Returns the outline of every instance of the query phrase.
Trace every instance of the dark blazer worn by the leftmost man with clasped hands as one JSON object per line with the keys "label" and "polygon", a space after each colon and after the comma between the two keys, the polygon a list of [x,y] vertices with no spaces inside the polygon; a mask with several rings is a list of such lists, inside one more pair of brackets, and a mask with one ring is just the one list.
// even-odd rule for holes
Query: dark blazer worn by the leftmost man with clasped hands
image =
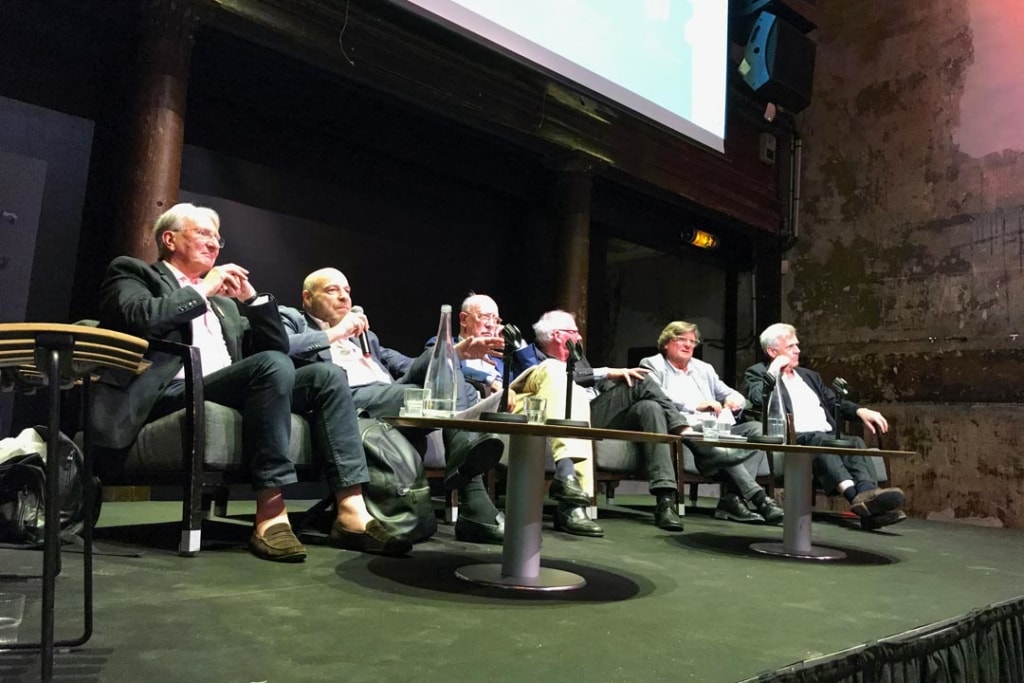
{"label": "dark blazer worn by the leftmost man with clasped hands", "polygon": [[[288,337],[272,298],[263,305],[246,306],[214,296],[210,306],[220,321],[232,360],[257,351],[288,351]],[[190,287],[180,287],[159,261],[119,256],[108,266],[100,287],[100,326],[143,339],[190,344],[191,321],[206,309],[203,297]],[[92,425],[97,445],[131,445],[157,399],[181,369],[181,359],[167,353],[151,351],[146,357],[153,365],[137,378],[104,372],[96,384]]]}

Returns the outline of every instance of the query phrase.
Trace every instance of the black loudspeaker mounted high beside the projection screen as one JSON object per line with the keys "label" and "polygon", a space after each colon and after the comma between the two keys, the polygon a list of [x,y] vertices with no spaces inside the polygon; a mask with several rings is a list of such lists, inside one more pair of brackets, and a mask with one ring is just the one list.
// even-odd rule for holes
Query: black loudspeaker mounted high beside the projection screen
{"label": "black loudspeaker mounted high beside the projection screen", "polygon": [[814,41],[771,12],[761,12],[740,65],[746,84],[767,102],[791,112],[811,103]]}

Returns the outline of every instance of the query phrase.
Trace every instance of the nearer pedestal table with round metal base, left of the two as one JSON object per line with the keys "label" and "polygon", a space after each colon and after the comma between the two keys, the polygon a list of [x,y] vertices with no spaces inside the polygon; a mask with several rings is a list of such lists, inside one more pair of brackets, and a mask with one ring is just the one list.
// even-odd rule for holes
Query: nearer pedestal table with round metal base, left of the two
{"label": "nearer pedestal table with round metal base, left of the two", "polygon": [[445,418],[384,418],[396,427],[451,428],[509,435],[508,490],[505,499],[505,542],[501,564],[460,567],[456,575],[485,586],[527,591],[582,588],[587,581],[571,571],[541,566],[541,521],[544,511],[544,458],[548,438],[590,440],[678,441],[671,434],[563,427],[525,422],[490,422]]}

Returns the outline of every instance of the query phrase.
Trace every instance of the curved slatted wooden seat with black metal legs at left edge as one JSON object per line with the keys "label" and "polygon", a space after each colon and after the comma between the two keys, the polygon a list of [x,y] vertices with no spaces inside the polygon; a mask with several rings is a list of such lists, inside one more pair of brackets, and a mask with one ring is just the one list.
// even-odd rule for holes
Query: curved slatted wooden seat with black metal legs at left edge
{"label": "curved slatted wooden seat with black metal legs at left edge", "polygon": [[[55,323],[0,324],[0,369],[3,383],[20,391],[46,388],[49,393],[49,422],[46,459],[46,511],[45,518],[59,519],[60,501],[57,486],[60,459],[60,391],[84,384],[85,411],[89,409],[88,388],[92,373],[97,368],[117,368],[139,374],[150,367],[142,356],[148,348],[143,339],[101,330],[87,325],[61,325]],[[86,447],[82,478],[85,486],[85,524],[82,539],[83,600],[85,602],[81,636],[55,642],[53,639],[53,606],[56,575],[60,565],[60,525],[46,524],[43,545],[43,604],[39,643],[11,643],[7,649],[40,648],[42,671],[40,680],[53,677],[53,647],[85,644],[92,636],[92,509],[95,492],[92,486],[92,458],[89,453],[89,430],[86,421]]]}

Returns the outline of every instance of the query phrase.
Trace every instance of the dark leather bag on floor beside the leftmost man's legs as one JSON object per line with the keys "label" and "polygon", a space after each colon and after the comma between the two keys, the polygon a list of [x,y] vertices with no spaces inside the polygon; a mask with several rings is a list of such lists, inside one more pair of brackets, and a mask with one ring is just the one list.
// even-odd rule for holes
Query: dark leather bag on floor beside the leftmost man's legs
{"label": "dark leather bag on floor beside the leftmost man's legs", "polygon": [[423,458],[401,432],[376,418],[359,418],[370,481],[362,484],[367,509],[392,533],[412,543],[437,531]]}

